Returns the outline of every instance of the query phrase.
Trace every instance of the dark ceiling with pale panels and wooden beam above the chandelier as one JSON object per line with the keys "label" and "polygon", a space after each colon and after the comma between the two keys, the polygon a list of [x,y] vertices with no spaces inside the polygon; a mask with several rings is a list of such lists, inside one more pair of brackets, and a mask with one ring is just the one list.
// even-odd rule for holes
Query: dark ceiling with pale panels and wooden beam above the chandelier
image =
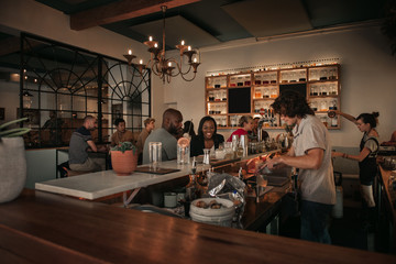
{"label": "dark ceiling with pale panels and wooden beam above the chandelier", "polygon": [[381,19],[386,0],[36,0],[70,15],[70,28],[100,25],[139,42],[194,47]]}

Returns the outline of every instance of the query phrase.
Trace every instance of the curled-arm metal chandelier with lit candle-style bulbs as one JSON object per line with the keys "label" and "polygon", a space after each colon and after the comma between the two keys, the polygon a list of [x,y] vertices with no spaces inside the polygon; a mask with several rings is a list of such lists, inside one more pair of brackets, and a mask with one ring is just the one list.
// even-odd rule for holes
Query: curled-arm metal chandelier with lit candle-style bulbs
{"label": "curled-arm metal chandelier with lit candle-style bulbs", "polygon": [[[178,62],[175,58],[167,58],[165,54],[165,12],[167,7],[162,6],[161,10],[163,12],[163,42],[162,48],[158,46],[158,42],[153,41],[153,37],[150,36],[148,41],[144,42],[148,46],[148,52],[151,53],[151,58],[147,64],[143,64],[143,59],[140,59],[139,64],[133,63],[132,61],[136,57],[132,54],[132,50],[128,51],[128,54],[123,55],[128,64],[136,67],[142,75],[143,69],[150,68],[152,73],[157,75],[163,82],[165,80],[169,84],[172,77],[178,75],[186,81],[191,81],[195,79],[197,74],[197,68],[199,66],[199,56],[197,52],[191,50],[191,46],[185,45],[185,41],[182,41],[179,45],[176,45],[176,48],[180,52],[180,57]],[[184,56],[187,57],[187,62],[184,62]],[[183,65],[187,65],[187,69],[183,68]],[[186,67],[186,66],[185,66]],[[193,73],[190,73],[193,69]]]}

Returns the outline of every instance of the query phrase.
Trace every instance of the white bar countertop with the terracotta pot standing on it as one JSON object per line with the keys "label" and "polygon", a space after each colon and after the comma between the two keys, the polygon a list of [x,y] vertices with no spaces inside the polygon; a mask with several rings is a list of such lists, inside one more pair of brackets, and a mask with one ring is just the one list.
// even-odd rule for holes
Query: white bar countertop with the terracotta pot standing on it
{"label": "white bar countertop with the terracotta pot standing on it", "polygon": [[[176,161],[163,162],[161,167],[178,168],[180,172],[164,175],[135,172],[130,176],[117,176],[113,170],[102,170],[98,173],[82,174],[74,177],[36,183],[35,189],[94,200],[122,191],[179,178],[189,175],[191,172],[190,164],[178,165]],[[210,165],[197,165],[197,172],[207,170],[209,167]]]}

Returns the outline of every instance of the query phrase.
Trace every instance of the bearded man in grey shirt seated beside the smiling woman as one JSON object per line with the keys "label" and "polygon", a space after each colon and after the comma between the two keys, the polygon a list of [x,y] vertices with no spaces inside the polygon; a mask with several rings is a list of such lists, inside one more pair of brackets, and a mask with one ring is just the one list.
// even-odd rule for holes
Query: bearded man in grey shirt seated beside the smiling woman
{"label": "bearded man in grey shirt seated beside the smiling woman", "polygon": [[176,136],[180,133],[183,125],[180,111],[168,108],[163,114],[162,128],[154,130],[144,142],[143,164],[150,163],[150,142],[162,142],[162,161],[170,161],[177,157]]}

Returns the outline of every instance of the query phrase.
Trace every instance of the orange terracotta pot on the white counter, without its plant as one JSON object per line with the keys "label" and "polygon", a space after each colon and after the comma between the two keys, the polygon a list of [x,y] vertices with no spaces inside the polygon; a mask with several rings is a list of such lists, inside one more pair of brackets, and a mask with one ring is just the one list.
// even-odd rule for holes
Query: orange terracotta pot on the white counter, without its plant
{"label": "orange terracotta pot on the white counter, without its plant", "polygon": [[131,175],[138,166],[138,151],[111,151],[111,165],[118,176]]}

